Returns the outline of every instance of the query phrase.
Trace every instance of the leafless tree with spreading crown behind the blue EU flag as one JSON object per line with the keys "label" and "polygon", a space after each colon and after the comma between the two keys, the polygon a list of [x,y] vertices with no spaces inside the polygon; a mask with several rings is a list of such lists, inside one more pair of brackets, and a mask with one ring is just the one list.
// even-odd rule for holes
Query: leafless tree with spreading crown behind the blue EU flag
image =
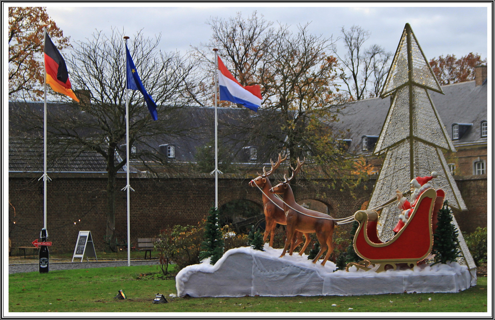
{"label": "leafless tree with spreading crown behind the blue EU flag", "polygon": [[[115,178],[127,163],[125,48],[123,32],[112,30],[109,37],[96,32],[86,42],[78,42],[67,65],[73,87],[81,103],[49,109],[48,135],[51,154],[67,157],[82,152],[97,152],[106,161],[107,235],[115,237]],[[134,165],[153,170],[150,163],[167,164],[158,152],[157,141],[185,135],[183,107],[197,99],[197,64],[177,52],[158,50],[160,36],[144,38],[141,32],[131,37],[131,55],[148,93],[157,104],[158,120],[150,117],[139,91],[129,91],[129,148]],[[61,97],[61,99],[64,99]],[[23,132],[42,132],[43,114],[37,110],[18,110],[15,127]],[[26,118],[28,121],[25,121]],[[133,147],[134,146],[134,147]],[[112,241],[113,242],[113,241]]]}

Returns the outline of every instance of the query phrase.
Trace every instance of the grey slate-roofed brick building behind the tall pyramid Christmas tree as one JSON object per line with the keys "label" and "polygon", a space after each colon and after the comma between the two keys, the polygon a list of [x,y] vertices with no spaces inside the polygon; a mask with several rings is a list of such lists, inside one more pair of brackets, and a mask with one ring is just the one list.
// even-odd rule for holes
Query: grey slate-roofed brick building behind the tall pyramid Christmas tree
{"label": "grey slate-roofed brick building behind the tall pyramid Christmas tree", "polygon": [[[486,68],[486,67],[485,67]],[[446,154],[456,176],[486,175],[488,104],[487,81],[467,81],[443,86],[445,94],[430,91],[456,153]],[[382,130],[390,108],[388,96],[358,100],[346,107],[336,127],[350,129],[349,150],[366,155],[380,169],[381,161],[372,155],[374,143]]]}

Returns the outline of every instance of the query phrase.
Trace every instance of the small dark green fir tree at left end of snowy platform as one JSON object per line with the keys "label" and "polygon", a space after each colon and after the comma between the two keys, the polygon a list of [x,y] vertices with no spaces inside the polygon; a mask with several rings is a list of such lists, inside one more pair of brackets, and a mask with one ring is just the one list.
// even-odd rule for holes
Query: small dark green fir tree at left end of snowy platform
{"label": "small dark green fir tree at left end of snowy platform", "polygon": [[210,264],[214,265],[223,255],[224,241],[222,230],[218,224],[218,216],[220,211],[215,207],[211,207],[209,216],[206,218],[204,226],[204,241],[201,243],[201,251],[199,259],[203,260],[211,257]]}

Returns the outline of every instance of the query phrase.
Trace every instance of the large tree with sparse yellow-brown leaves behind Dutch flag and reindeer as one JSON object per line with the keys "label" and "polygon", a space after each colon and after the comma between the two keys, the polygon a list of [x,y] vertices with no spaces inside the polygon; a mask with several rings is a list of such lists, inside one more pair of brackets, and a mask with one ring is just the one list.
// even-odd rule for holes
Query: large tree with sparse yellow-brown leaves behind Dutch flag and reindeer
{"label": "large tree with sparse yellow-brown leaves behind Dutch flag and reindeer", "polygon": [[[308,167],[307,174],[354,184],[351,172],[355,162],[348,159],[349,153],[338,140],[343,133],[332,130],[346,98],[339,89],[338,59],[328,54],[334,50],[334,41],[312,35],[308,24],[297,26],[296,32],[287,25],[271,28],[272,24],[255,12],[249,19],[238,14],[229,20],[214,18],[209,24],[213,30],[210,44],[219,48],[226,66],[233,74],[242,74],[238,80],[243,86],[259,84],[263,96],[258,114],[246,112],[246,117],[223,123],[222,134],[230,137],[237,149],[255,145],[260,163],[285,149],[294,167],[297,157],[309,158],[316,165]],[[247,33],[236,30],[251,32],[245,39]],[[252,38],[253,34],[256,37]],[[250,47],[241,54],[231,49],[235,43]],[[252,59],[246,60],[246,56]]]}

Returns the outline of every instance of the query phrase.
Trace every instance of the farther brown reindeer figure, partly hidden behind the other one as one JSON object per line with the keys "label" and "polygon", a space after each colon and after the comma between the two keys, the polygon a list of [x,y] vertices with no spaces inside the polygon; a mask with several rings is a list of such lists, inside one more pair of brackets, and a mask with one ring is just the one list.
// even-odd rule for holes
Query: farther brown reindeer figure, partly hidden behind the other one
{"label": "farther brown reindeer figure, partly hidden behind the other one", "polygon": [[[270,171],[266,172],[266,167],[263,167],[263,174],[258,173],[259,177],[249,182],[250,186],[254,186],[254,184],[256,184],[263,190],[263,211],[265,213],[265,224],[266,224],[265,234],[263,235],[263,242],[266,242],[268,235],[270,235],[270,247],[272,248],[273,248],[273,237],[275,234],[275,228],[277,227],[277,224],[285,226],[287,225],[287,223],[285,222],[284,210],[280,209],[283,208],[283,202],[280,201],[280,199],[277,198],[275,195],[269,192],[269,190],[272,187],[272,184],[270,183],[268,176],[270,176],[285,159],[287,159],[287,156],[285,156],[285,158],[282,159],[282,156],[279,153],[279,158],[275,164],[270,159],[270,163],[272,164],[272,168]],[[280,208],[277,207],[274,204],[274,202]],[[299,244],[302,243],[302,233],[296,232],[294,236],[296,237],[295,246],[298,246]]]}

